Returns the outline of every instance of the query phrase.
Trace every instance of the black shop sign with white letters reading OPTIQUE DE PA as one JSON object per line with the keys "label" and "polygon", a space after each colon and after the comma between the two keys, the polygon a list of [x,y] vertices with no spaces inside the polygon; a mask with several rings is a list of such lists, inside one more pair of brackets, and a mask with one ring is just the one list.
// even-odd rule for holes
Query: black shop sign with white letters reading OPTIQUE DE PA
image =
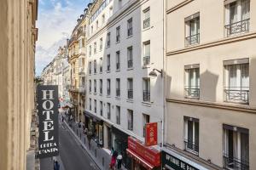
{"label": "black shop sign with white letters reading OPTIQUE DE PA", "polygon": [[[172,156],[162,150],[162,167],[163,169],[175,169],[175,170],[199,170],[196,167],[189,165],[188,163]],[[170,168],[171,167],[171,168]]]}

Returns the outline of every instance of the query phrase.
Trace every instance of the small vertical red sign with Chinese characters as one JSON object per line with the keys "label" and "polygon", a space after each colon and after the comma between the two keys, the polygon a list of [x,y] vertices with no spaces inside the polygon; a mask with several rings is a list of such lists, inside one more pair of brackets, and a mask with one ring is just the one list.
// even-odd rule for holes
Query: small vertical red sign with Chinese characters
{"label": "small vertical red sign with Chinese characters", "polygon": [[147,146],[157,144],[157,122],[151,122],[146,124],[145,144]]}

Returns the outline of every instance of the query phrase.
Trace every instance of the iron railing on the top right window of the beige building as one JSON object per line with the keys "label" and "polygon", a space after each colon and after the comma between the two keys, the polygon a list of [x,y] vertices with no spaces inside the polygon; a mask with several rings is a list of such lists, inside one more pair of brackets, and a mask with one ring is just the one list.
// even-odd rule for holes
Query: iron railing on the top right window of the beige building
{"label": "iron railing on the top right window of the beige building", "polygon": [[241,21],[232,23],[230,25],[226,25],[224,27],[227,31],[227,37],[234,35],[234,34],[247,32],[247,31],[249,31],[249,27],[250,27],[250,19],[241,20]]}

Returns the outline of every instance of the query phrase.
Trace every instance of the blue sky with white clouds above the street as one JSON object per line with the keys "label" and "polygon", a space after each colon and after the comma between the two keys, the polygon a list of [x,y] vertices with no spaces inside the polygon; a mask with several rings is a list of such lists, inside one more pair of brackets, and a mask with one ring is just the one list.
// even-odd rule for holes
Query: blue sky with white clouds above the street
{"label": "blue sky with white clouds above the street", "polygon": [[38,0],[38,42],[36,75],[55,57],[57,49],[65,45],[77,19],[90,0]]}

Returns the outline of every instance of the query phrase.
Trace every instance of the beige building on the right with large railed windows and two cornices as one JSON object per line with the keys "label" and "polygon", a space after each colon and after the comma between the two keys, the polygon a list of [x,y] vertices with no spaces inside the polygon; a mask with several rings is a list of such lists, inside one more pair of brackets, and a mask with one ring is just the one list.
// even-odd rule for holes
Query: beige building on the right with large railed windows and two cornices
{"label": "beige building on the right with large railed windows and two cornices", "polygon": [[255,0],[166,1],[166,169],[256,169],[255,44]]}

